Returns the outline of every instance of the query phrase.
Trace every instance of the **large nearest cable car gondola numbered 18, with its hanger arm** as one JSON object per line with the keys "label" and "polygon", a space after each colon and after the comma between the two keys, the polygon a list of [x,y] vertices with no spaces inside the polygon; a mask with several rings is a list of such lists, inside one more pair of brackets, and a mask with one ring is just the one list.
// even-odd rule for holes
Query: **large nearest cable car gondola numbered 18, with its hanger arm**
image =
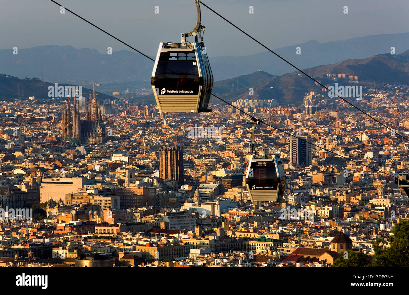
{"label": "large nearest cable car gondola numbered 18, with its hanger arm", "polygon": [[[151,84],[159,112],[211,112],[209,104],[213,74],[202,40],[200,0],[195,0],[198,22],[180,43],[161,42],[152,71]],[[195,36],[195,42],[186,37]]]}

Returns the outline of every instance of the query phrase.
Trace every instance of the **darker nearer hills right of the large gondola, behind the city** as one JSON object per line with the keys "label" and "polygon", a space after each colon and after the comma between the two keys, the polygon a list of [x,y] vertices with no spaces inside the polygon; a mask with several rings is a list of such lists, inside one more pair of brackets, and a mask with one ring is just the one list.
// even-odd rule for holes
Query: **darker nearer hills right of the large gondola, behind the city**
{"label": "darker nearer hills right of the large gondola, behind the city", "polygon": [[[329,85],[327,74],[357,75],[359,85],[369,86],[373,83],[391,85],[409,85],[409,51],[399,55],[379,54],[364,59],[345,60],[333,65],[303,69],[324,85]],[[249,87],[254,88],[254,96],[249,96]],[[299,104],[305,93],[317,91],[321,87],[315,85],[307,76],[299,71],[282,77],[272,76],[266,72],[254,72],[249,75],[222,80],[214,83],[213,93],[222,95],[227,101],[236,99],[276,99],[283,105]],[[213,100],[213,103],[216,103]]]}

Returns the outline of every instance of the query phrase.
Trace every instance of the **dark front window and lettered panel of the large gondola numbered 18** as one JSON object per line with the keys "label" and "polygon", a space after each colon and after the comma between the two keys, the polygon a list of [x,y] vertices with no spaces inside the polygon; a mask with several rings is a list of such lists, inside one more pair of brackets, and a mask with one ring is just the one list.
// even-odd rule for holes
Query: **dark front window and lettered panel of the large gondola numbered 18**
{"label": "dark front window and lettered panel of the large gondola numbered 18", "polygon": [[[198,95],[199,70],[194,53],[162,52],[157,64],[155,87],[164,95]],[[196,79],[196,81],[195,81]]]}

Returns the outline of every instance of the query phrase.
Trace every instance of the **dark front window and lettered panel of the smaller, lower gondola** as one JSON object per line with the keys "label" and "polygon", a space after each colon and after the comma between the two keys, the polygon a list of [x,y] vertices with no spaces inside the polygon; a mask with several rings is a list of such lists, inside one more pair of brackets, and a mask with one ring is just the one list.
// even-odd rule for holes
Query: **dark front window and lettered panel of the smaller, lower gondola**
{"label": "dark front window and lettered panel of the smaller, lower gondola", "polygon": [[276,165],[274,161],[252,162],[254,177],[248,178],[248,185],[251,190],[276,190],[278,179]]}

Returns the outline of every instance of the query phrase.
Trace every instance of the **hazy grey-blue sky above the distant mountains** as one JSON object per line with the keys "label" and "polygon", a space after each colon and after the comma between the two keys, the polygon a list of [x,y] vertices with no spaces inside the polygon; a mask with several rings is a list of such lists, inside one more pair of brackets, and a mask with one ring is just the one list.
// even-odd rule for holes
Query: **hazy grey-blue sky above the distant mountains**
{"label": "hazy grey-blue sky above the distant mountains", "polygon": [[[56,0],[149,56],[159,42],[180,42],[196,25],[193,0]],[[330,42],[409,31],[408,0],[204,0],[244,31],[275,49],[309,40]],[[159,13],[155,13],[155,6]],[[254,13],[249,13],[249,7]],[[348,13],[344,13],[344,6]],[[0,49],[43,45],[131,50],[50,0],[0,0]],[[202,6],[209,56],[265,51]],[[189,40],[189,39],[188,39]],[[193,40],[193,39],[191,39]]]}

